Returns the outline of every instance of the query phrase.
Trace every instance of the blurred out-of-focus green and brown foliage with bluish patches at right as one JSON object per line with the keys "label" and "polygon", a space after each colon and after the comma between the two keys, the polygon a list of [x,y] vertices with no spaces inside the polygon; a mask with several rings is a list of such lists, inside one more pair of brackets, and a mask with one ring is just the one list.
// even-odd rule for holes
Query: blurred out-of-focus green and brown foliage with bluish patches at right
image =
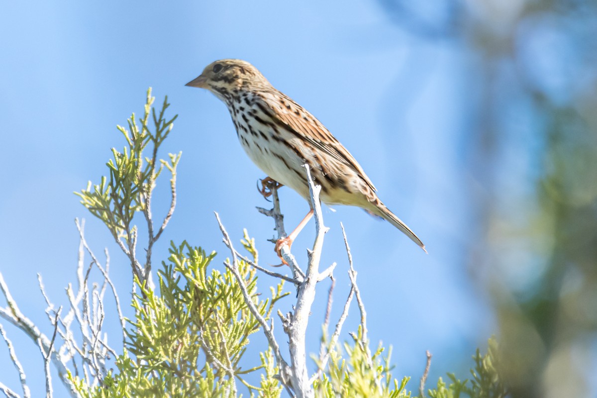
{"label": "blurred out-of-focus green and brown foliage with bluish patches at right", "polygon": [[512,396],[594,394],[597,2],[379,1],[461,57],[470,270],[490,292]]}

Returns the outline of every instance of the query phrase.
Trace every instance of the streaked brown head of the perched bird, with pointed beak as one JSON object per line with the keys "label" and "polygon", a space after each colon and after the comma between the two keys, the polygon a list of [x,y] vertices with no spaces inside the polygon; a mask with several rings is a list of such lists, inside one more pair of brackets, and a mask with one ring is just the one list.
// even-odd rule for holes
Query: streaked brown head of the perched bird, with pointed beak
{"label": "streaked brown head of the perched bird, with pointed beak", "polygon": [[206,88],[221,99],[239,91],[270,87],[256,67],[242,60],[219,60],[205,67],[201,75],[186,84]]}

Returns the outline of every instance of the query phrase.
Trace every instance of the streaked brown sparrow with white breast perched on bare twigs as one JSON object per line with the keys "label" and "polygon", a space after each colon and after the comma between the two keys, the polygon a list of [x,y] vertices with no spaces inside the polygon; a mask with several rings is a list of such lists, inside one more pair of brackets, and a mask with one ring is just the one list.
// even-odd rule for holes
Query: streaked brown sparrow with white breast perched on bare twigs
{"label": "streaked brown sparrow with white breast perched on bare twigs", "polygon": [[[321,185],[322,202],[365,209],[389,221],[425,250],[417,235],[381,203],[376,187],[346,148],[306,109],[276,90],[256,67],[242,60],[215,61],[186,85],[205,88],[224,101],[242,147],[268,175],[262,181],[264,196],[266,184],[277,182],[310,202],[302,167],[307,163],[313,179]],[[313,209],[286,243],[293,242],[312,215]],[[276,251],[280,246],[278,242]]]}

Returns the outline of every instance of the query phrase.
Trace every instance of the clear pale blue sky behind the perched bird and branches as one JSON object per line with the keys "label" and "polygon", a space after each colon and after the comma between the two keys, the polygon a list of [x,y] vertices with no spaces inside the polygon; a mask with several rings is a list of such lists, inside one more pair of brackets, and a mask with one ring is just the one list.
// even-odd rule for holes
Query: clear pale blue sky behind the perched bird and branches
{"label": "clear pale blue sky behind the perched bird and branches", "polygon": [[[325,209],[331,231],[322,263],[338,262],[332,319],[349,290],[342,221],[372,343],[393,345],[394,374],[412,376],[411,388],[417,388],[425,350],[434,355],[433,380],[462,371],[494,332],[487,297],[467,269],[467,242],[475,229],[463,171],[467,121],[461,91],[469,66],[457,43],[421,41],[393,25],[376,2],[358,1],[342,7],[316,1],[4,2],[0,36],[0,270],[21,310],[45,332],[50,327],[36,273],[50,297],[66,304],[64,288],[75,280],[75,217],[87,219],[96,254],[109,249],[121,291],[130,286],[126,258],[73,191],[106,174],[110,148],[124,146],[115,126],[142,112],[147,87],[156,103],[168,95],[171,114],[179,114],[162,158],[183,152],[179,202],[154,261],[167,258],[170,240],[186,239],[220,252],[214,262],[220,267],[226,248],[217,211],[234,239],[243,228],[256,237],[262,264],[276,263],[266,241],[273,224],[255,210],[269,205],[256,190],[263,173],[242,151],[226,107],[207,91],[184,87],[219,58],[250,61],[309,109],[361,163],[384,203],[426,243],[429,255],[360,209]],[[162,184],[167,187],[166,180]],[[168,205],[167,192],[161,193],[156,215]],[[281,200],[291,229],[308,205],[288,189],[281,190]],[[309,224],[294,254],[304,260],[312,239]],[[311,352],[318,350],[325,292],[327,285],[313,309]],[[284,306],[290,301],[282,311]],[[353,307],[344,331],[356,325]],[[33,395],[41,395],[43,383],[33,381],[42,374],[38,348],[16,329],[7,331]],[[2,343],[0,368],[10,371],[2,372],[1,381],[18,390],[17,374],[7,366]]]}

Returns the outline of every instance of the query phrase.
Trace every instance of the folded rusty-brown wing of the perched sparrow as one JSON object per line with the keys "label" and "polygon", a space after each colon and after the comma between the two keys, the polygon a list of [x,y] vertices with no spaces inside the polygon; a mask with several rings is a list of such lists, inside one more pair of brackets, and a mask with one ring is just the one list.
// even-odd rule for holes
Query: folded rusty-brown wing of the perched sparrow
{"label": "folded rusty-brown wing of the perched sparrow", "polygon": [[316,149],[325,152],[339,162],[353,169],[365,183],[377,191],[361,165],[350,155],[350,152],[336,140],[330,131],[319,122],[315,116],[281,92],[268,93],[267,97],[260,97],[257,104],[274,122],[291,134],[306,140]]}

